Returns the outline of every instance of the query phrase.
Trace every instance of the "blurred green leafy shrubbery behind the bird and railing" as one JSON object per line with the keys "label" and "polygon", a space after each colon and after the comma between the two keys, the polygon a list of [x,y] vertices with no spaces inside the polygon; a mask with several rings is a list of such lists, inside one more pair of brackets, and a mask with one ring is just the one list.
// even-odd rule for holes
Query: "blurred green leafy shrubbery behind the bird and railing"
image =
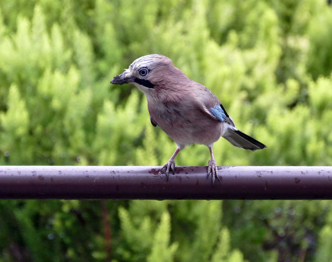
{"label": "blurred green leafy shrubbery behind the bird and railing", "polygon": [[[0,164],[162,165],[175,143],[113,76],[170,57],[267,145],[218,165],[332,164],[326,0],[0,0]],[[207,165],[193,145],[177,165]],[[0,201],[0,262],[328,262],[331,201]]]}

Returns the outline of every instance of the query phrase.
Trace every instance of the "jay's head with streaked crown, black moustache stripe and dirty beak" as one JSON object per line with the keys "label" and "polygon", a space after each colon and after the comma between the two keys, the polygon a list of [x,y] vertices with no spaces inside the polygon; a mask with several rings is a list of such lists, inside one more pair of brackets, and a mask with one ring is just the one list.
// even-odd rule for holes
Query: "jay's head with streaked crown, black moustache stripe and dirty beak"
{"label": "jay's head with streaked crown, black moustache stripe and dirty beak", "polygon": [[149,93],[156,85],[165,81],[172,71],[180,70],[173,66],[168,57],[157,54],[145,55],[132,62],[121,75],[115,76],[111,84],[132,83],[144,93]]}

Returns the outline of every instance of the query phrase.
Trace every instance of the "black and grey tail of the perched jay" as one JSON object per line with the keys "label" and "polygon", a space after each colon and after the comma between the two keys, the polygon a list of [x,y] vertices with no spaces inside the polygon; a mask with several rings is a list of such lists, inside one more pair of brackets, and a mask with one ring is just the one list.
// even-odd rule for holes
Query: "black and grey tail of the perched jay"
{"label": "black and grey tail of the perched jay", "polygon": [[251,151],[266,148],[266,145],[231,126],[225,132],[223,138],[228,140],[228,142],[231,143],[233,146],[248,149]]}

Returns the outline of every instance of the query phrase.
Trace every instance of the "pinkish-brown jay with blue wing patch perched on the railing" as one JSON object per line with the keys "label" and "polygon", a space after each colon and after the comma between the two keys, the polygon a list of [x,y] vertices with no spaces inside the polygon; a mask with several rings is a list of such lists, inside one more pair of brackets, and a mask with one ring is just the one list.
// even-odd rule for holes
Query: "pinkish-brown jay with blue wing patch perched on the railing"
{"label": "pinkish-brown jay with blue wing patch perched on the railing", "polygon": [[189,79],[164,55],[139,57],[111,81],[115,85],[128,83],[144,93],[151,124],[160,126],[176,143],[174,154],[159,172],[166,169],[167,181],[170,170],[175,174],[176,155],[191,144],[206,145],[210,150],[207,178],[211,174],[212,187],[215,178],[219,180],[212,146],[220,137],[242,149],[267,148],[238,130],[219,99],[207,87]]}

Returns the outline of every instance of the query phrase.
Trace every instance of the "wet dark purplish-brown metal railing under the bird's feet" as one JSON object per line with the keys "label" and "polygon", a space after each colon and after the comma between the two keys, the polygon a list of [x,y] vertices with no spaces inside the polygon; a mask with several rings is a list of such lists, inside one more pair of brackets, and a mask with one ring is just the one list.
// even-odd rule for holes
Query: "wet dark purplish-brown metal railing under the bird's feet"
{"label": "wet dark purplish-brown metal railing under the bird's feet", "polygon": [[[330,166],[0,166],[0,199],[332,199]],[[331,177],[331,178],[330,178]]]}

